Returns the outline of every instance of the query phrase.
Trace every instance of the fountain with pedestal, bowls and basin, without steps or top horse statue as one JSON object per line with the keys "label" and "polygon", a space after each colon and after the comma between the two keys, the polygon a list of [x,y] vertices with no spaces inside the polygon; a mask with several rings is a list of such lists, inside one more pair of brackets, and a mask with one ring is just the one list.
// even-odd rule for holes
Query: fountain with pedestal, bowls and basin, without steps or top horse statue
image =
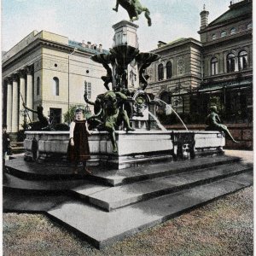
{"label": "fountain with pedestal, bowls and basin, without steps or top horse statue", "polygon": [[[106,69],[102,81],[108,91],[97,96],[96,102],[89,102],[84,95],[85,102],[95,104],[98,109],[98,113],[88,119],[90,129],[97,129],[90,137],[89,164],[108,163],[108,166],[123,169],[154,160],[222,153],[224,137],[221,133],[188,131],[171,106],[145,91],[148,85],[146,68],[159,60],[160,55],[140,52],[137,28],[127,20],[115,24],[113,48],[108,54],[91,57]],[[156,108],[160,104],[165,104],[168,112],[177,115],[186,131],[166,131],[156,118]],[[65,166],[67,144],[67,131],[26,131],[25,159]]]}

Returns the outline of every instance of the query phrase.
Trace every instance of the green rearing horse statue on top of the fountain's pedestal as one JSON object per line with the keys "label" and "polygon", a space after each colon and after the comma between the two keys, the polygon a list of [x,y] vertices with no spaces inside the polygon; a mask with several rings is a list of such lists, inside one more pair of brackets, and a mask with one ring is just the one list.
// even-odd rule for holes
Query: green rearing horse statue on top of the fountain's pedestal
{"label": "green rearing horse statue on top of the fountain's pedestal", "polygon": [[131,21],[138,20],[138,16],[145,12],[145,17],[148,20],[148,26],[151,26],[150,12],[148,8],[143,7],[139,0],[116,0],[114,11],[118,11],[121,5],[127,12]]}

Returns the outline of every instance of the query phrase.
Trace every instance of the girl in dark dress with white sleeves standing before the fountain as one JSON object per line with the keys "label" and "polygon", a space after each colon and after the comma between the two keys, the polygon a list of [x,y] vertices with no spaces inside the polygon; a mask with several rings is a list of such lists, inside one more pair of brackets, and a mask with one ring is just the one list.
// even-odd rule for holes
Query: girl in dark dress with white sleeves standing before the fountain
{"label": "girl in dark dress with white sleeves standing before the fountain", "polygon": [[86,167],[86,161],[90,160],[90,148],[88,136],[90,135],[87,120],[84,119],[84,109],[75,110],[75,119],[70,124],[69,143],[67,148],[67,160],[75,164],[74,173],[78,173],[79,162],[83,163],[83,170],[90,174]]}

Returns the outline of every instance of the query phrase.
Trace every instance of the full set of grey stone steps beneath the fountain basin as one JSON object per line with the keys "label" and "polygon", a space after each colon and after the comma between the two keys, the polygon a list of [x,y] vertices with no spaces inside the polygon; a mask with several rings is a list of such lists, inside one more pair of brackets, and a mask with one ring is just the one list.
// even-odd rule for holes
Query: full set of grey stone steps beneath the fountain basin
{"label": "full set of grey stone steps beneath the fountain basin", "polygon": [[98,248],[253,184],[253,166],[225,155],[123,170],[7,161],[3,210],[45,212]]}

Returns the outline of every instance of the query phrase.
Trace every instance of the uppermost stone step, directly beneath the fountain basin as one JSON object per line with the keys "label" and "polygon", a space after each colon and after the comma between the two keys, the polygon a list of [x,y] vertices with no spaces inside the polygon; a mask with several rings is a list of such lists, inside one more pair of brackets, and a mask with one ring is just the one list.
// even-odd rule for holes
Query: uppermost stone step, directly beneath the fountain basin
{"label": "uppermost stone step, directly beneath the fountain basin", "polygon": [[6,161],[8,172],[16,177],[32,180],[71,180],[86,178],[92,181],[118,186],[125,183],[134,183],[154,177],[164,177],[177,172],[190,172],[208,166],[220,166],[239,161],[238,157],[216,155],[196,158],[194,160],[171,161],[164,164],[144,165],[126,168],[122,170],[109,170],[108,166],[90,166],[92,176],[86,176],[82,172],[73,174],[70,166],[52,166],[27,162],[22,158]]}

